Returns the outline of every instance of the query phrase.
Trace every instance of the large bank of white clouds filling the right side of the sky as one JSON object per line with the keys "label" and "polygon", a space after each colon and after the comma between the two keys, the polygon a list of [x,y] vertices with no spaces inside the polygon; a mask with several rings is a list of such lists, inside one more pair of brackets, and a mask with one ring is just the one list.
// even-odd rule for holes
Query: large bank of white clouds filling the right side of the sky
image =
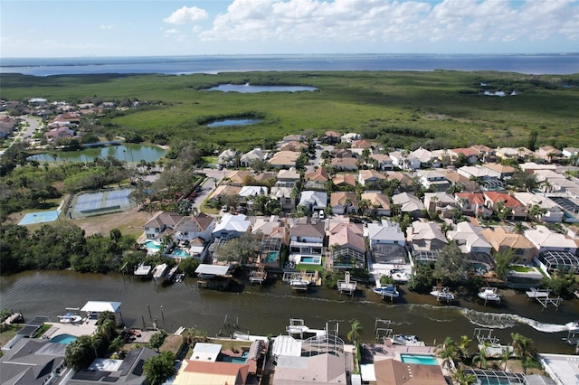
{"label": "large bank of white clouds filling the right side of the sky", "polygon": [[576,0],[233,0],[204,42],[513,42],[579,37]]}

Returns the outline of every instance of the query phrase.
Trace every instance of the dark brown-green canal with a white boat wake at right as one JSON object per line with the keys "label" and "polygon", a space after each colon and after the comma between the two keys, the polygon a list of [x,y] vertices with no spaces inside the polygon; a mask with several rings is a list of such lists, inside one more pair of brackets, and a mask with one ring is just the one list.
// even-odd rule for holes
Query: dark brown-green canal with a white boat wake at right
{"label": "dark brown-green canal with a white boat wake at right", "polygon": [[237,324],[242,332],[278,335],[285,333],[289,318],[302,318],[310,328],[339,324],[339,334],[346,340],[349,325],[357,318],[364,327],[363,339],[370,342],[375,320],[380,318],[392,321],[394,333],[415,334],[426,343],[441,343],[446,336],[472,337],[475,327],[489,327],[502,343],[510,342],[510,333],[522,333],[534,340],[540,352],[573,353],[563,341],[565,324],[579,318],[579,300],[565,300],[558,311],[542,311],[541,305],[511,290],[502,291],[500,305],[484,306],[474,298],[441,305],[432,296],[403,288],[394,305],[370,288],[355,297],[340,296],[326,287],[299,294],[280,280],[219,292],[198,288],[195,278],[162,286],[119,274],[30,271],[0,277],[0,285],[0,307],[22,312],[26,319],[48,315],[56,320],[66,307],[82,307],[90,300],[118,301],[126,324],[142,327],[143,321],[157,318],[158,326],[169,333],[179,326],[197,326],[210,335],[231,333],[224,325],[227,317],[227,324]]}

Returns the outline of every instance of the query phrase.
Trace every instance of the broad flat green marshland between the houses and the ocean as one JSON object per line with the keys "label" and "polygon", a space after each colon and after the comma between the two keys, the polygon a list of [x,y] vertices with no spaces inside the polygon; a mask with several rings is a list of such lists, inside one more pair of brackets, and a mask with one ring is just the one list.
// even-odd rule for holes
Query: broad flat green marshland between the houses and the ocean
{"label": "broad flat green marshland between the houses and the ocean", "polygon": [[[204,90],[219,83],[303,85],[315,92],[242,94]],[[484,96],[490,90],[517,96]],[[564,87],[575,84],[574,87]],[[108,122],[144,135],[162,131],[246,149],[263,138],[328,129],[358,132],[382,143],[428,138],[443,146],[579,146],[579,74],[535,76],[502,72],[230,72],[217,75],[74,75],[36,78],[2,76],[2,99],[46,98],[80,102],[101,99],[161,100],[166,105],[129,110]],[[263,117],[248,127],[200,125],[218,117]],[[388,129],[390,127],[390,129]],[[392,127],[396,133],[393,134]],[[424,135],[424,133],[426,133]]]}

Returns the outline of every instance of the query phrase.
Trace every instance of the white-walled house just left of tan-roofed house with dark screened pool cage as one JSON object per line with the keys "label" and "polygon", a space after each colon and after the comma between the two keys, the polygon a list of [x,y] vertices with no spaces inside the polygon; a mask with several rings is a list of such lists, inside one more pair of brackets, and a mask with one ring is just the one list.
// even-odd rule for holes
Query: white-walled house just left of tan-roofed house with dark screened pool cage
{"label": "white-walled house just left of tan-roofed house with dark screened pool cage", "polygon": [[324,222],[312,222],[308,217],[300,218],[290,229],[289,253],[322,255],[326,238],[324,227]]}

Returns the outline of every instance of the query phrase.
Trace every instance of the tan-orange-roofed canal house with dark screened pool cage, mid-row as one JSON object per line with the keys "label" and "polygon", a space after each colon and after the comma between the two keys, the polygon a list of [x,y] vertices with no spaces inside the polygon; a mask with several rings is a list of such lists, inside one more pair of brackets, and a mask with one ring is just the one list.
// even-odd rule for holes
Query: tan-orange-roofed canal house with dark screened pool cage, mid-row
{"label": "tan-orange-roofed canal house with dark screened pool cage, mid-row", "polygon": [[327,247],[334,268],[365,267],[365,239],[362,225],[337,223],[329,229]]}

